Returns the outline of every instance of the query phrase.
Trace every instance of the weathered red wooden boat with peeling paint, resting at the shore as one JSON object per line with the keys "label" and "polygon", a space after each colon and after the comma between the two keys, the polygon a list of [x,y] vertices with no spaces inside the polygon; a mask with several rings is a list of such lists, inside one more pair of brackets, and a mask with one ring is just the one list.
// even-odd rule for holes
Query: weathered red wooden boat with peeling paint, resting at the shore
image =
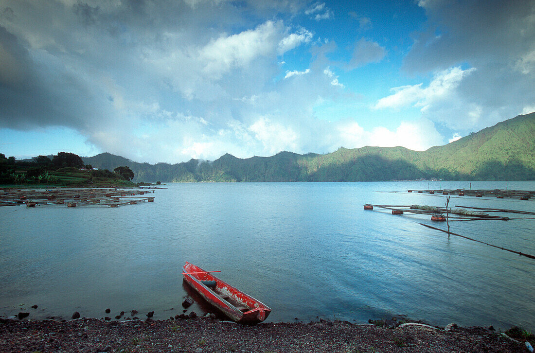
{"label": "weathered red wooden boat with peeling paint, resting at the shore", "polygon": [[258,324],[268,318],[271,312],[265,304],[221,281],[201,267],[186,262],[182,274],[184,280],[198,294],[237,323]]}

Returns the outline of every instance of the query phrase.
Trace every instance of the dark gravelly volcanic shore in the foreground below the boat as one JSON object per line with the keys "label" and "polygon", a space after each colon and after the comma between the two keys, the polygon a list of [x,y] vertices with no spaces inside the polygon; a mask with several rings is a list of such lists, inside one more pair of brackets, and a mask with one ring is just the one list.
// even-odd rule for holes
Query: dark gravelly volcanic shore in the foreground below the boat
{"label": "dark gravelly volcanic shore in the foreground below the boat", "polygon": [[343,321],[242,326],[209,318],[166,321],[7,320],[0,352],[527,352],[485,328],[395,329]]}

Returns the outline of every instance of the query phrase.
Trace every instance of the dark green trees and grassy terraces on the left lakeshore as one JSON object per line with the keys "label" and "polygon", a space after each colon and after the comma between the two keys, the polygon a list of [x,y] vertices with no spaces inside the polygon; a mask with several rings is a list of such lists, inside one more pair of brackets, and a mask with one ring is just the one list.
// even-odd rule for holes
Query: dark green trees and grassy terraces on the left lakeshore
{"label": "dark green trees and grassy terraces on the left lakeshore", "polygon": [[[90,165],[87,165],[90,167]],[[109,170],[85,168],[82,158],[75,154],[59,152],[50,159],[38,156],[31,160],[17,161],[0,154],[0,184],[25,187],[103,187],[133,186],[129,181],[134,174],[129,168],[121,173]]]}

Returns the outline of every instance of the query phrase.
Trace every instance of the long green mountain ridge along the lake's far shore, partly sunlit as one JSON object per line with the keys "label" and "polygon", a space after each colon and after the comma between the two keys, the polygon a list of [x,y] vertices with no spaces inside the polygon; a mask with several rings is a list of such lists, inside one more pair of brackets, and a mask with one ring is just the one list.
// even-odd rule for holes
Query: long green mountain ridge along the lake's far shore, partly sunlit
{"label": "long green mountain ridge along the lake's far shore, partly sunlit", "polygon": [[83,158],[93,167],[128,166],[134,181],[388,181],[535,180],[535,113],[518,116],[426,151],[404,147],[340,148],[325,155],[280,152],[271,157],[151,165],[108,153]]}

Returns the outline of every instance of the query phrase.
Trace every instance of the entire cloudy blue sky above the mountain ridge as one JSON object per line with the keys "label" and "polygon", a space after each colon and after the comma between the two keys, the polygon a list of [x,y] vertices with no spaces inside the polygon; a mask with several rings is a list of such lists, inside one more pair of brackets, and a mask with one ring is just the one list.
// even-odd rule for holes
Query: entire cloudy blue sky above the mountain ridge
{"label": "entire cloudy blue sky above the mountain ridge", "polygon": [[0,152],[425,150],[535,111],[535,1],[0,0]]}

